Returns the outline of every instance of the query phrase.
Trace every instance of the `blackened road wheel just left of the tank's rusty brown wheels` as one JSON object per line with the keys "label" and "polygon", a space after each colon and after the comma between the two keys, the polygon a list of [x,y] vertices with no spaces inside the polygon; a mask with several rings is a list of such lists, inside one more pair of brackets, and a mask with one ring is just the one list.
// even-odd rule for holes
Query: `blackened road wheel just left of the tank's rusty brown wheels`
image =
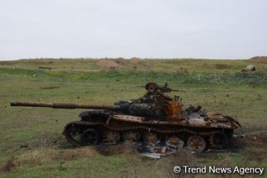
{"label": "blackened road wheel just left of the tank's rusty brown wheels", "polygon": [[98,145],[98,142],[100,142],[99,133],[94,129],[85,130],[80,137],[80,142],[82,142],[84,146]]}

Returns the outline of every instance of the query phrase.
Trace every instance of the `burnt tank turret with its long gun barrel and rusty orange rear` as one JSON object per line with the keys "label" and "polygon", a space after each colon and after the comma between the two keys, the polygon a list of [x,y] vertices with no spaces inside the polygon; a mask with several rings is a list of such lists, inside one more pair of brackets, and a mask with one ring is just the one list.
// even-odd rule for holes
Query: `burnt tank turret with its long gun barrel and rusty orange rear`
{"label": "burnt tank turret with its long gun barrel and rusty orange rear", "polygon": [[[129,101],[118,101],[114,105],[89,105],[77,103],[38,103],[38,102],[21,102],[11,101],[11,106],[24,107],[43,107],[57,109],[95,109],[95,110],[112,110],[120,111],[123,114],[135,116],[157,116],[172,117],[182,113],[182,100],[179,96],[170,98],[164,93],[169,93],[172,89],[167,88],[167,84],[160,88],[156,83],[147,83],[145,85],[147,93],[139,99]],[[178,90],[176,90],[178,91]]]}

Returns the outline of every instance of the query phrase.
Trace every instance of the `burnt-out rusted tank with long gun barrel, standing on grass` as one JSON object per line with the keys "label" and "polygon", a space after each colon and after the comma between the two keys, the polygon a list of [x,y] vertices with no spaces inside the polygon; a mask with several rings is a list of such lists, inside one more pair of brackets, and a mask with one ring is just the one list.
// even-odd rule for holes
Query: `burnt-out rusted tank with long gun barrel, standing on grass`
{"label": "burnt-out rusted tank with long gun barrel, standing on grass", "polygon": [[156,83],[145,85],[147,93],[139,99],[119,101],[114,105],[75,103],[28,103],[11,101],[11,106],[90,109],[81,112],[80,120],[69,122],[63,130],[68,142],[76,147],[117,144],[119,142],[164,142],[174,148],[185,143],[192,152],[205,148],[224,149],[239,122],[220,112],[206,112],[201,106],[183,110],[179,95]]}

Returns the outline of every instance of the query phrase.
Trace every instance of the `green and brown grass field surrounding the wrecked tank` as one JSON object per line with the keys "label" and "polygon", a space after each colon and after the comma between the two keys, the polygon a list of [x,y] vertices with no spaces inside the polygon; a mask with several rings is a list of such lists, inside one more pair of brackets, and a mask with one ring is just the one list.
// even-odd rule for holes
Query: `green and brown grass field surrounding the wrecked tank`
{"label": "green and brown grass field surrounding the wrecked tank", "polygon": [[[31,59],[0,62],[0,177],[215,177],[174,174],[176,165],[191,167],[264,167],[267,169],[267,65],[241,73],[249,61],[237,60]],[[42,67],[42,68],[40,68]],[[49,69],[50,68],[50,69]],[[186,149],[161,159],[142,157],[131,145],[75,148],[62,135],[66,123],[83,110],[10,107],[11,100],[112,105],[139,98],[145,84],[169,83],[184,90],[184,108],[201,105],[238,120],[242,128],[231,149],[191,154]],[[172,95],[177,93],[172,93]],[[224,177],[241,177],[224,174]],[[262,177],[266,177],[266,170]],[[244,177],[244,176],[242,176]],[[253,177],[246,174],[245,177]]]}

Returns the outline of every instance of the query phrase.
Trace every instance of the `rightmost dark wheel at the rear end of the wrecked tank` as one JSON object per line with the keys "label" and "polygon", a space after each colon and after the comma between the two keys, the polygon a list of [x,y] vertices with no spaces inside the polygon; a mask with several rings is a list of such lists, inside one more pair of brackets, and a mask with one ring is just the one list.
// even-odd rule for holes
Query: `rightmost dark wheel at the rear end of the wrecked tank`
{"label": "rightmost dark wheel at the rear end of the wrecked tank", "polygon": [[228,144],[228,139],[224,132],[216,131],[209,137],[209,143],[214,149],[224,149]]}

